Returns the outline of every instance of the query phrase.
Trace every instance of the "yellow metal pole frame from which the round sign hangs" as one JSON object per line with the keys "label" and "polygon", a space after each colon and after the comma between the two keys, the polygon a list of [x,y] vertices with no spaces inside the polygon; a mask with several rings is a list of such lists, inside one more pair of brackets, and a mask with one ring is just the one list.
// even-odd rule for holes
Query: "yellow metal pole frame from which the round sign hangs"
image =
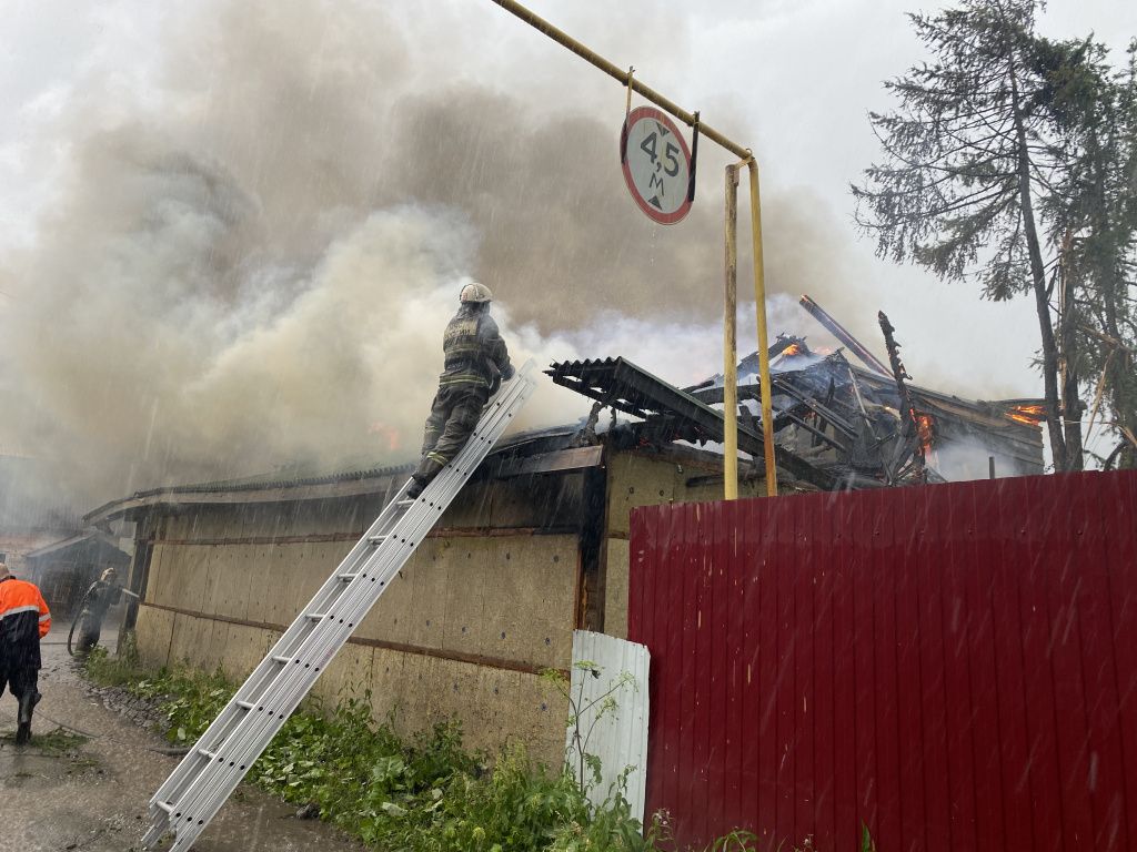
{"label": "yellow metal pole frame from which the round sign hangs", "polygon": [[765,449],[765,478],[766,494],[774,496],[778,494],[778,468],[774,463],[774,435],[773,435],[773,404],[770,396],[770,350],[766,333],[766,291],[765,276],[762,268],[762,210],[758,194],[758,164],[750,153],[750,149],[742,148],[732,142],[727,136],[708,126],[697,116],[680,108],[667,98],[650,89],[638,80],[633,78],[630,72],[616,67],[599,53],[590,50],[573,39],[562,30],[553,26],[545,18],[534,15],[514,0],[493,0],[506,11],[517,16],[533,28],[540,31],[553,41],[567,48],[576,56],[596,66],[605,74],[617,80],[621,85],[625,85],[630,92],[634,91],[642,98],[652,101],[661,109],[670,112],[679,120],[694,127],[698,123],[699,135],[706,136],[712,142],[717,143],[742,162],[727,167],[727,306],[723,324],[723,417],[724,426],[724,469],[723,469],[723,496],[733,500],[738,496],[738,346],[736,340],[736,316],[737,316],[737,189],[738,169],[746,165],[750,176],[750,229],[754,241],[754,299],[756,303],[758,324],[758,382],[762,391],[762,437]]}

